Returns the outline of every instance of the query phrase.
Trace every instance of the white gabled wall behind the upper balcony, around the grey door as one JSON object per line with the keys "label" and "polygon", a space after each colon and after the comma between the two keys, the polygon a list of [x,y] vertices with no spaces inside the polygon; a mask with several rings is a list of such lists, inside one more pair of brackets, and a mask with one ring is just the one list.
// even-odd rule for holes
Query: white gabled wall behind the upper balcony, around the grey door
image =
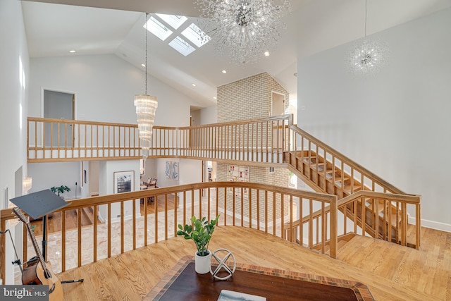
{"label": "white gabled wall behind the upper balcony, around the grey door", "polygon": [[[144,92],[144,74],[114,54],[33,58],[30,78],[30,116],[41,116],[44,88],[75,93],[79,120],[136,123],[133,99]],[[194,100],[152,76],[148,86],[149,94],[159,101],[155,125],[190,124]]]}

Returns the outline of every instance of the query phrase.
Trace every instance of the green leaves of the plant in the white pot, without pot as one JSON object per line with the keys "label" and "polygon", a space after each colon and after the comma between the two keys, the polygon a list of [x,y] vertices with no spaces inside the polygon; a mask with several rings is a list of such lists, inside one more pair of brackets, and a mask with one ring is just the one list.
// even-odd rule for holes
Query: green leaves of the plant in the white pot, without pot
{"label": "green leaves of the plant in the white pot, without pot", "polygon": [[197,247],[197,254],[199,256],[206,256],[209,254],[209,242],[211,235],[213,235],[214,228],[218,224],[219,216],[216,219],[208,221],[206,217],[197,219],[196,216],[192,216],[192,225],[186,224],[185,226],[178,225],[180,229],[177,231],[177,235],[183,235],[185,240],[193,240]]}

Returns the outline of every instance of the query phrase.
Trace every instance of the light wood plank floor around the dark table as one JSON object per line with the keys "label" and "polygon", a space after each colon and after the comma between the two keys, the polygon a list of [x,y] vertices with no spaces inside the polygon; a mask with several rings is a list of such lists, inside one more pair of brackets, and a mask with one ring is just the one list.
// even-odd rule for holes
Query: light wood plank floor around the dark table
{"label": "light wood plank floor around the dark table", "polygon": [[[376,300],[451,300],[451,233],[423,228],[421,250],[357,235],[330,259],[255,229],[220,226],[209,248],[222,247],[237,262],[360,281]],[[171,238],[58,276],[85,279],[63,284],[65,300],[142,300],[194,251],[192,241]]]}

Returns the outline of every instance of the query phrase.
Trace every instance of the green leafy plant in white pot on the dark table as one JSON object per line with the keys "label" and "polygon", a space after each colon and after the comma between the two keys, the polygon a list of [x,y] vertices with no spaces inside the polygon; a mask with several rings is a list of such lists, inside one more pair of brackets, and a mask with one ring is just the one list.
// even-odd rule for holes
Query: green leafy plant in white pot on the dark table
{"label": "green leafy plant in white pot on the dark table", "polygon": [[177,235],[183,235],[185,240],[193,240],[197,247],[194,262],[196,272],[199,274],[206,274],[210,271],[211,252],[208,247],[214,228],[218,224],[218,219],[219,216],[211,221],[208,221],[205,216],[202,219],[192,216],[192,224],[178,225],[180,230],[177,231]]}

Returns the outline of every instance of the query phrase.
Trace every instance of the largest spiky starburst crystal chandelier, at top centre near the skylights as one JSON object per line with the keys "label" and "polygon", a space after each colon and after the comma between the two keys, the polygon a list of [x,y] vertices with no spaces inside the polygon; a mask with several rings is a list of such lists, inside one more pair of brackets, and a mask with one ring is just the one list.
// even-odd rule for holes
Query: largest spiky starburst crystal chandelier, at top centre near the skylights
{"label": "largest spiky starburst crystal chandelier, at top centre near the skylights", "polygon": [[273,49],[285,24],[288,0],[196,0],[204,39],[238,64],[254,63]]}

